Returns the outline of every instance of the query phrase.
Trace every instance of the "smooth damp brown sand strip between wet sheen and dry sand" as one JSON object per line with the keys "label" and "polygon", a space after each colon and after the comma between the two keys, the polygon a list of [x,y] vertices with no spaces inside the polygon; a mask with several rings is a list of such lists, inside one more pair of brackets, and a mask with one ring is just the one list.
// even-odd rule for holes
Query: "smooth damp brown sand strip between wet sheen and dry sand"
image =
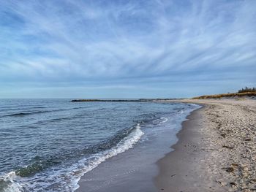
{"label": "smooth damp brown sand strip between wet sheen and dry sand", "polygon": [[[178,142],[170,146],[173,150],[157,161],[159,174],[154,178],[154,183],[159,191],[216,191],[213,183],[204,179],[206,172],[198,169],[197,160],[205,154],[199,154],[198,142],[203,137],[198,132],[200,122],[203,120],[202,111],[208,104],[200,104],[201,108],[191,112],[181,124],[182,128],[176,134]],[[194,177],[195,173],[199,177]],[[222,191],[218,188],[218,191]]]}

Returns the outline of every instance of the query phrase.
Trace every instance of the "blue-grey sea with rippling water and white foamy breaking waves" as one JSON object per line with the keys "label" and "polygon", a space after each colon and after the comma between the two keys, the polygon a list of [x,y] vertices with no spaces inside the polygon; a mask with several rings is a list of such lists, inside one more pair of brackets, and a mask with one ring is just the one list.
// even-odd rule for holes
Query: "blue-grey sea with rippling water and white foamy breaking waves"
{"label": "blue-grey sea with rippling water and white foamy breaking waves", "polygon": [[147,147],[146,141],[162,129],[180,128],[197,108],[167,102],[0,99],[0,191],[75,191],[83,174],[138,145]]}

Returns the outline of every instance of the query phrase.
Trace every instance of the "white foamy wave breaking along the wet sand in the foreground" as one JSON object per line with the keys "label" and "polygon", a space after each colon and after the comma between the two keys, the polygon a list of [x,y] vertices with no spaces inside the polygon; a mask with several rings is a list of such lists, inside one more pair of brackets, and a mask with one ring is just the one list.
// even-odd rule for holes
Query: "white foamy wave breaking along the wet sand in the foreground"
{"label": "white foamy wave breaking along the wet sand in the foreground", "polygon": [[[140,124],[138,124],[134,128],[124,131],[122,134],[124,134],[125,137],[120,139],[121,136],[119,133],[117,137],[110,139],[108,145],[101,143],[93,148],[86,147],[86,149],[80,151],[82,152],[81,154],[84,155],[84,153],[89,152],[89,150],[97,151],[97,153],[91,154],[86,158],[80,158],[80,161],[77,161],[77,163],[72,166],[64,166],[57,171],[52,168],[54,172],[53,170],[49,171],[54,174],[44,177],[43,185],[40,186],[35,184],[37,182],[42,183],[44,174],[42,173],[42,175],[40,175],[40,172],[47,167],[49,168],[49,164],[53,165],[53,159],[48,159],[44,164],[42,159],[37,157],[38,162],[40,162],[39,164],[31,164],[31,166],[23,167],[17,172],[10,172],[0,177],[0,191],[18,192],[24,191],[24,189],[25,191],[45,191],[46,188],[49,189],[49,187],[55,183],[61,183],[61,185],[58,185],[58,190],[60,190],[59,188],[62,186],[65,188],[64,191],[75,191],[79,188],[78,181],[83,174],[96,168],[108,158],[132,148],[144,133],[140,130]],[[1,186],[3,186],[4,189],[1,190]]]}

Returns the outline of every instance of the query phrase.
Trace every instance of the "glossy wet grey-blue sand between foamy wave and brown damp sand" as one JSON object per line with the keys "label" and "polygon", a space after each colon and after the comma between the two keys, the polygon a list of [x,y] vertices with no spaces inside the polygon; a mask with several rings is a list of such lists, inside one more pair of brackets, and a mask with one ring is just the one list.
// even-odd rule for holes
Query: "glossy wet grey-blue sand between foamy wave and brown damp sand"
{"label": "glossy wet grey-blue sand between foamy wave and brown damp sand", "polygon": [[[193,111],[198,107],[193,107]],[[80,188],[76,191],[158,191],[154,185],[154,177],[158,173],[156,162],[170,152],[170,145],[177,142],[176,134],[181,130],[182,123],[190,113],[189,108],[181,113],[183,115],[177,113],[176,118],[168,120],[170,124],[165,124],[166,128],[159,124],[159,129],[155,127],[158,134],[151,132],[151,128],[143,129],[147,135],[143,142],[138,142],[136,147],[113,156],[99,164],[93,171],[84,174],[78,183]]]}

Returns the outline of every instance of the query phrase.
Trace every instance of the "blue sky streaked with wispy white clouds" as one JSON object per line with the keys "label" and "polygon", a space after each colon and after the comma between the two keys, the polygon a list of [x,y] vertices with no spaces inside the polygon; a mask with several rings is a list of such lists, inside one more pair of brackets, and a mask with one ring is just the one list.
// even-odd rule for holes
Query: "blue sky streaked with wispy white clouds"
{"label": "blue sky streaked with wispy white clouds", "polygon": [[256,86],[255,0],[0,0],[0,98]]}

